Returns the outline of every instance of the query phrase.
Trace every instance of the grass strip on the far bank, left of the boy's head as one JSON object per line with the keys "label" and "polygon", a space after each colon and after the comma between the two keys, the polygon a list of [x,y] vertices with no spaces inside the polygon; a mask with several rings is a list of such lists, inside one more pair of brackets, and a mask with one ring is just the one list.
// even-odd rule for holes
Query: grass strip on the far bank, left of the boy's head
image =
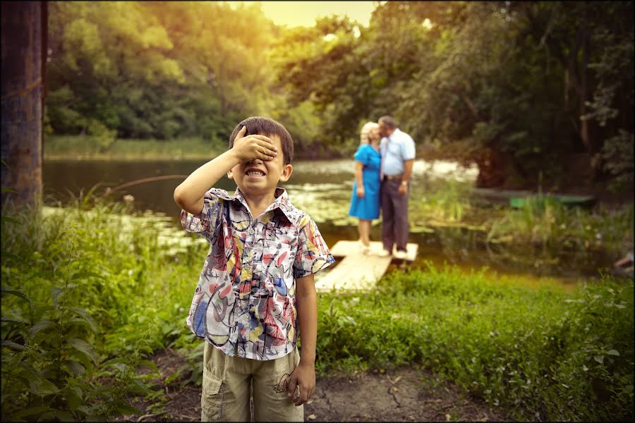
{"label": "grass strip on the far bank, left of the boy's head", "polygon": [[209,159],[224,152],[222,142],[178,140],[108,140],[85,136],[44,137],[45,160]]}

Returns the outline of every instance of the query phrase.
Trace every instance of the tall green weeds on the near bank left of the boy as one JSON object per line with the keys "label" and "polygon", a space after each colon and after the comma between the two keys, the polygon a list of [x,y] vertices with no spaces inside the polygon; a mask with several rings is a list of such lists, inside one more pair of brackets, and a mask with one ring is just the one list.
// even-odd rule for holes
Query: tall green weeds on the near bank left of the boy
{"label": "tall green weeds on the near bank left of the boy", "polygon": [[162,226],[125,205],[89,193],[39,210],[3,210],[2,419],[140,412],[128,396],[163,390],[138,367],[156,374],[147,355],[193,340],[184,316],[198,265],[175,262],[157,243]]}

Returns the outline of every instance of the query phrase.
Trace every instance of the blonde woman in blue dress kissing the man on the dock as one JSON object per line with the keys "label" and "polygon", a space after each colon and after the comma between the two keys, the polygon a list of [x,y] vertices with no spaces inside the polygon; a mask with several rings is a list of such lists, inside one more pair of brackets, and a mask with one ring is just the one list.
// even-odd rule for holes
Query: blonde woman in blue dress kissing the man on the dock
{"label": "blonde woman in blue dress kissing the man on the dock", "polygon": [[355,153],[355,183],[349,210],[349,216],[359,219],[359,243],[363,254],[370,253],[370,223],[379,218],[382,161],[379,142],[379,125],[375,122],[363,125]]}

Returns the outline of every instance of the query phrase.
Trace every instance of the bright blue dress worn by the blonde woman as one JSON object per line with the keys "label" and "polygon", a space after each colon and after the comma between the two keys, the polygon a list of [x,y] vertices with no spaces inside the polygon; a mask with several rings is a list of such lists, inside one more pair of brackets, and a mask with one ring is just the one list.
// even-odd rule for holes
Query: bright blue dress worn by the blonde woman
{"label": "bright blue dress worn by the blonde woman", "polygon": [[380,210],[380,166],[382,155],[371,145],[360,145],[355,153],[355,160],[364,164],[362,171],[364,183],[364,197],[357,197],[357,181],[353,183],[351,209],[349,216],[364,220],[379,218]]}

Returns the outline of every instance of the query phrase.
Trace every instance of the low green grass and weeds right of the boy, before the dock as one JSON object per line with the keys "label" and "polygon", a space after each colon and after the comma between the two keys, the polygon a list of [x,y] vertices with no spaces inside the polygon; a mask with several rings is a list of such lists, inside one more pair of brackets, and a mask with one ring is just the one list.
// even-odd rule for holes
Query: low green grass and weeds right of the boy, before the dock
{"label": "low green grass and weeds right of the boy, before the dock", "polygon": [[575,293],[452,268],[395,271],[366,295],[323,295],[317,368],[421,363],[515,419],[632,420],[633,281]]}

